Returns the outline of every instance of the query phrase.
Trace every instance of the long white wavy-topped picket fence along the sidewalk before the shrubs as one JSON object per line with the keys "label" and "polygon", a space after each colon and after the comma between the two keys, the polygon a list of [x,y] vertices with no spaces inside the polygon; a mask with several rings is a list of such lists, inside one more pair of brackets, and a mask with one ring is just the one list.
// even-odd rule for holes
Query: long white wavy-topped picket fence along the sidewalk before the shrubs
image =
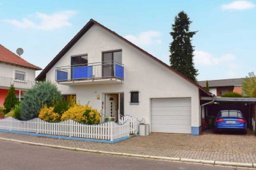
{"label": "long white wavy-topped picket fence along the sidewalk before the shrubs", "polygon": [[20,121],[15,118],[8,117],[0,120],[0,129],[113,141],[115,139],[129,136],[130,120],[123,121],[123,123],[109,121],[98,125],[86,125],[74,120],[49,123],[47,121],[40,120],[39,118]]}

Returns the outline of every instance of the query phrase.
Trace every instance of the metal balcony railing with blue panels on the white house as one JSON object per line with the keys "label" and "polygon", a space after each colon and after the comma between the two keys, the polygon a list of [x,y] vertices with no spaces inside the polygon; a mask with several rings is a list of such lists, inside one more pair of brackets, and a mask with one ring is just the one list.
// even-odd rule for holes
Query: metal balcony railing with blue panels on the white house
{"label": "metal balcony railing with blue panels on the white house", "polygon": [[57,82],[108,78],[123,80],[124,65],[116,61],[106,61],[85,65],[61,66],[56,68],[55,74]]}

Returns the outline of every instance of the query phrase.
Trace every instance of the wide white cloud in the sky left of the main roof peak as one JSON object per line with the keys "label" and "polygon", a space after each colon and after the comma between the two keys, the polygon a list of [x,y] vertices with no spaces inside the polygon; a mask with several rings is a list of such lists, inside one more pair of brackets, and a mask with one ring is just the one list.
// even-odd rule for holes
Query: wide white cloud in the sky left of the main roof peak
{"label": "wide white cloud in the sky left of the main roof peak", "polygon": [[34,15],[31,15],[29,19],[24,18],[21,21],[7,19],[6,22],[16,27],[51,31],[65,26],[72,26],[68,20],[74,15],[76,15],[76,12],[74,11],[56,12],[52,13],[51,15],[36,12]]}

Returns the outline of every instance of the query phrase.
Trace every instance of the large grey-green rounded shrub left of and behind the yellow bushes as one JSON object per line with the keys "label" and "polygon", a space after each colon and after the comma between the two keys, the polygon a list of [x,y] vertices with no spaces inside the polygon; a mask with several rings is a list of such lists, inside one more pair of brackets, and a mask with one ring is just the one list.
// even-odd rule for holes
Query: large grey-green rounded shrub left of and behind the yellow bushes
{"label": "large grey-green rounded shrub left of and behind the yellow bushes", "polygon": [[56,84],[50,81],[38,82],[31,89],[24,93],[24,100],[21,101],[20,118],[29,120],[37,118],[43,105],[52,106],[61,99],[61,91]]}

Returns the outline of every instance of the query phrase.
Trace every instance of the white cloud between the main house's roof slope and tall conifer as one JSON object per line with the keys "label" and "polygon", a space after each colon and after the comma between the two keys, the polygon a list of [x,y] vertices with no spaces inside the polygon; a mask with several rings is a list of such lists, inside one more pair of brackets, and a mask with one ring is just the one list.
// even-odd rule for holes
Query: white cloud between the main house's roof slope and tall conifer
{"label": "white cloud between the main house's roof slope and tall conifer", "polygon": [[152,43],[161,43],[160,36],[161,33],[159,31],[145,31],[136,36],[126,35],[124,38],[136,45],[150,45]]}

